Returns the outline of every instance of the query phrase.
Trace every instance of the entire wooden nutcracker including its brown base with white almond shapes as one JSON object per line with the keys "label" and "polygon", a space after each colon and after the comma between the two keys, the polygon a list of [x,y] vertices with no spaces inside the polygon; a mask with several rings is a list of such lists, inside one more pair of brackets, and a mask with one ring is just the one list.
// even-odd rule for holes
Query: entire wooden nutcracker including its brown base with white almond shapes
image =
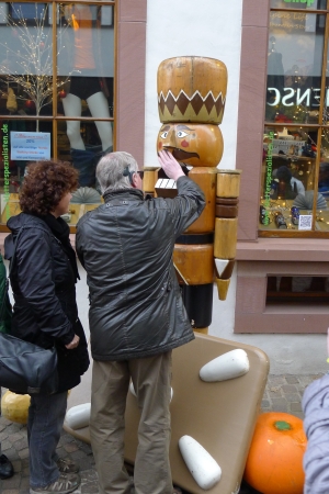
{"label": "entire wooden nutcracker including its brown base with white almond shapes", "polygon": [[[178,57],[159,66],[162,126],[157,150],[172,153],[206,198],[202,215],[177,239],[173,252],[186,312],[200,333],[207,333],[212,321],[215,278],[219,299],[225,300],[236,255],[240,175],[217,168],[226,85],[225,65],[212,58]],[[144,169],[145,192],[174,197],[174,181],[161,173]],[[249,345],[237,348],[234,341],[196,334],[194,341],[172,352],[172,362],[173,483],[193,494],[238,492],[266,382],[266,356]],[[125,461],[132,464],[140,420],[136,391],[131,384],[125,412]],[[87,441],[89,411],[89,403],[73,406],[65,424]]]}

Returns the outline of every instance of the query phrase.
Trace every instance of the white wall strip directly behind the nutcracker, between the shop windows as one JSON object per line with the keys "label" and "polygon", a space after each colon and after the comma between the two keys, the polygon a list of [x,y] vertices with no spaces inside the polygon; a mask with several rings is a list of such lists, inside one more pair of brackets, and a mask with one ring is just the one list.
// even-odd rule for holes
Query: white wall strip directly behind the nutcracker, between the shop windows
{"label": "white wall strip directly behind the nutcracker, between the shop windows", "polygon": [[[157,106],[158,66],[166,58],[195,55],[217,58],[227,66],[228,90],[220,124],[224,156],[219,167],[240,168],[236,166],[236,147],[241,16],[242,0],[206,0],[202,5],[196,0],[190,0],[188,3],[170,0],[166,5],[160,0],[147,2],[145,166],[157,166],[156,142],[161,125]],[[218,295],[214,292],[214,303],[219,304],[220,319],[214,322],[209,333],[217,336],[220,336],[225,328],[229,332],[234,328],[235,277],[234,274],[231,278],[226,302],[216,300]]]}

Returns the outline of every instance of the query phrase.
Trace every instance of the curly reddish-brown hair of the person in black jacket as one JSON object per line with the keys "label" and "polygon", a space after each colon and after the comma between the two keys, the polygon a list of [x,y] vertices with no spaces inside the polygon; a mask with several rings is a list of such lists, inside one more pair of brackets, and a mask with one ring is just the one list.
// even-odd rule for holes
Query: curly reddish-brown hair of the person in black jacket
{"label": "curly reddish-brown hair of the person in black jacket", "polygon": [[67,192],[78,188],[78,176],[68,161],[30,164],[20,190],[21,210],[39,215],[53,212]]}

